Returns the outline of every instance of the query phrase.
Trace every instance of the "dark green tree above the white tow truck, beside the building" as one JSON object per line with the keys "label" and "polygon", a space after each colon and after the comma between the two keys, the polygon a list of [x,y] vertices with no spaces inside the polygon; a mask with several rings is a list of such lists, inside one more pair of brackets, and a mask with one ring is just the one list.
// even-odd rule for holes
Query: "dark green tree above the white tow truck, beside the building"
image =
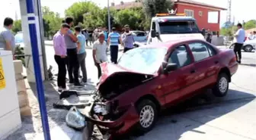
{"label": "dark green tree above the white tow truck, beside the building", "polygon": [[157,13],[167,13],[173,3],[170,0],[142,0],[142,5],[147,17],[154,17]]}

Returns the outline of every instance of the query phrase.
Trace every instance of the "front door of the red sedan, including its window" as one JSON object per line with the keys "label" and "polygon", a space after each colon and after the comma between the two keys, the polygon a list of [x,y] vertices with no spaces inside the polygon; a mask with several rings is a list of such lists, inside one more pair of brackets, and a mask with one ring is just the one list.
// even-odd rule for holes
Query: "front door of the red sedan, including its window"
{"label": "front door of the red sedan, including its window", "polygon": [[169,106],[178,101],[190,91],[187,86],[194,83],[195,67],[186,45],[178,45],[168,54],[168,64],[177,64],[178,69],[160,76],[162,90],[165,96],[165,105]]}

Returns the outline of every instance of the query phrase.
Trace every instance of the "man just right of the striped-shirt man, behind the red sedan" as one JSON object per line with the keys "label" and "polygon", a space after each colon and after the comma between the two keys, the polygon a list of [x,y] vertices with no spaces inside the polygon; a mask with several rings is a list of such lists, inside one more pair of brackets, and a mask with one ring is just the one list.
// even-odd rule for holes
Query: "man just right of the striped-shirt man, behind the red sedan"
{"label": "man just right of the striped-shirt man, behind the red sedan", "polygon": [[125,32],[122,34],[122,42],[124,45],[123,53],[125,53],[126,51],[129,51],[130,49],[133,49],[133,43],[134,43],[133,33],[130,32],[129,25],[126,25],[124,27],[125,27]]}

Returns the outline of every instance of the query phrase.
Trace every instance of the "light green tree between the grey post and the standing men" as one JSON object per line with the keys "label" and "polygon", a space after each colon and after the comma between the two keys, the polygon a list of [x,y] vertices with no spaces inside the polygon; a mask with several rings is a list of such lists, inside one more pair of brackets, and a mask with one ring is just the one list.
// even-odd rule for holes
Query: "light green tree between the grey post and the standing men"
{"label": "light green tree between the grey post and the standing men", "polygon": [[60,25],[62,23],[62,18],[59,16],[58,13],[54,13],[50,11],[50,8],[43,7],[43,23],[44,23],[44,32],[46,36],[53,36],[56,33]]}

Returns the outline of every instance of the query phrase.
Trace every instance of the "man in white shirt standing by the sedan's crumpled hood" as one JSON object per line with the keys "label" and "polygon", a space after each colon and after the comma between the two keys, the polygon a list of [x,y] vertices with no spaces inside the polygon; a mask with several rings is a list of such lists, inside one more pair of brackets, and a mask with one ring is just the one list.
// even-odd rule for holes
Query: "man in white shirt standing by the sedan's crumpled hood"
{"label": "man in white shirt standing by the sedan's crumpled hood", "polygon": [[107,42],[104,41],[104,33],[98,34],[98,40],[94,42],[92,58],[94,59],[94,64],[98,68],[98,78],[101,77],[101,66],[103,62],[107,62]]}

